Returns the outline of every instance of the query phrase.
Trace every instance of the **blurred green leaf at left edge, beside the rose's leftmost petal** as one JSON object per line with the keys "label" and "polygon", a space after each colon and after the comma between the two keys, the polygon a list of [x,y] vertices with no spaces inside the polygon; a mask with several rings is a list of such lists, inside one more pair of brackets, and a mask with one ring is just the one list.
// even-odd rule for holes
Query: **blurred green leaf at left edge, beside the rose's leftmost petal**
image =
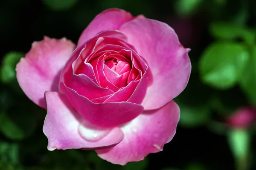
{"label": "blurred green leaf at left edge, beside the rose's leftmost petal", "polygon": [[15,68],[21,57],[24,57],[24,54],[15,51],[9,52],[3,57],[2,67],[0,68],[1,82],[6,84],[17,82]]}

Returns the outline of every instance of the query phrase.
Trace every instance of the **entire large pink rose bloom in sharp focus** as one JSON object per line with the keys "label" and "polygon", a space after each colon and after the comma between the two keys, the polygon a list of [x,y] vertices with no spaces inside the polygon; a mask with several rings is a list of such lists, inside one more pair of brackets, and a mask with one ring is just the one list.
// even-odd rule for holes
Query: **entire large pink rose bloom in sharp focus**
{"label": "entire large pink rose bloom in sharp focus", "polygon": [[189,80],[189,51],[166,23],[108,9],[77,45],[34,42],[17,64],[17,80],[47,109],[48,150],[96,150],[125,165],[163,150],[175,135],[180,110],[172,99]]}

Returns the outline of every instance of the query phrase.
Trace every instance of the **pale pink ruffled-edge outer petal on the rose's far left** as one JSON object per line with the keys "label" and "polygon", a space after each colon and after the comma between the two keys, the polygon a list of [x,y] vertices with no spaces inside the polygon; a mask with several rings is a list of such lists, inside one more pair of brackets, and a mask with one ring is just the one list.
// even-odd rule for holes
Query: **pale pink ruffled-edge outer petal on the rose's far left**
{"label": "pale pink ruffled-edge outer petal on the rose's far left", "polygon": [[58,91],[60,73],[75,44],[66,38],[44,37],[34,42],[25,58],[17,64],[17,80],[24,93],[35,104],[46,108],[45,91]]}

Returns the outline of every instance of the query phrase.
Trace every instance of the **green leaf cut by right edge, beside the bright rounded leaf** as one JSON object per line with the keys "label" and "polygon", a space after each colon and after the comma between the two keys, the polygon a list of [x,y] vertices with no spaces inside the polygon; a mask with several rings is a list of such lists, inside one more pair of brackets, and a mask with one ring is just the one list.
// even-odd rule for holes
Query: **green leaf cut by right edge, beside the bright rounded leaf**
{"label": "green leaf cut by right edge, beside the bright rounded leaf", "polygon": [[251,49],[250,59],[243,77],[241,77],[240,86],[253,104],[256,105],[256,46]]}

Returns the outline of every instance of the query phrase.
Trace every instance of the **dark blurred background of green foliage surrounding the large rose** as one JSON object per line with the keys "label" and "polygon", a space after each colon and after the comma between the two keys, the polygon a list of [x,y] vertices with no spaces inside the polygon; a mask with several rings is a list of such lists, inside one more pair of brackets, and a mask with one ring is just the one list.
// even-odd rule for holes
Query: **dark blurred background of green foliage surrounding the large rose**
{"label": "dark blurred background of green foliage surrounding the large rose", "polygon": [[[168,23],[192,49],[174,139],[125,166],[94,151],[48,151],[46,111],[15,75],[33,41],[76,43],[96,14],[114,7]],[[255,0],[1,0],[0,37],[0,170],[256,170]]]}

